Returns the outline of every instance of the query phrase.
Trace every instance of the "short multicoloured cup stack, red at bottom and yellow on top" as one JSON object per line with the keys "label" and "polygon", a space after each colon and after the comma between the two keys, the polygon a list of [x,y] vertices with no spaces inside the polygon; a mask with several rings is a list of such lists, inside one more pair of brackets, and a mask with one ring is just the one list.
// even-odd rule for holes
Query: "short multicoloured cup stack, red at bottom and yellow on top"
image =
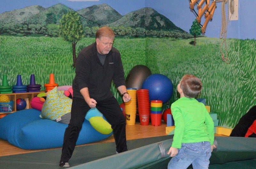
{"label": "short multicoloured cup stack, red at bottom and yellow on top", "polygon": [[163,101],[151,100],[150,101],[150,117],[152,126],[160,126],[162,121]]}

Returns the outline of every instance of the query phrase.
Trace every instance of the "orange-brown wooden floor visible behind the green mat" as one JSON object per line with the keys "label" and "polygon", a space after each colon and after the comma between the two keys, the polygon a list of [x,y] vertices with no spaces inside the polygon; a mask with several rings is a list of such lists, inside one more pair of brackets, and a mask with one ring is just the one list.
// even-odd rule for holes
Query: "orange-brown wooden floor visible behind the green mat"
{"label": "orange-brown wooden floor visible behind the green mat", "polygon": [[[138,139],[138,138],[165,136],[167,135],[165,134],[165,127],[166,127],[166,123],[164,122],[160,126],[152,126],[151,124],[147,126],[142,126],[138,122],[136,122],[135,125],[126,125],[126,139],[132,140],[132,139]],[[99,144],[99,143],[107,143],[107,142],[115,142],[113,135],[108,137],[105,140],[101,140],[99,142],[95,142],[91,144]],[[50,149],[24,150],[10,144],[9,142],[3,139],[0,139],[0,156],[22,154],[22,153],[29,153],[29,152],[35,152],[35,151],[44,151],[44,150],[50,150]]]}

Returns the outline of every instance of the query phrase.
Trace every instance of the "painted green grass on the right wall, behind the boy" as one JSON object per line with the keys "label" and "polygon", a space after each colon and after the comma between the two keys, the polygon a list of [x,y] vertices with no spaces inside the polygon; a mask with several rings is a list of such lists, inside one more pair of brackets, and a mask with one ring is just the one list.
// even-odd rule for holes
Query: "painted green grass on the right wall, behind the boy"
{"label": "painted green grass on the right wall, behind the boy", "polygon": [[[255,105],[255,40],[227,39],[230,64],[221,60],[221,39],[187,40],[146,39],[146,66],[153,73],[168,76],[174,86],[170,102],[179,98],[176,87],[184,74],[194,74],[203,82],[198,97],[206,98],[211,111],[218,114],[219,125],[233,128]],[[223,50],[224,51],[224,50]]]}

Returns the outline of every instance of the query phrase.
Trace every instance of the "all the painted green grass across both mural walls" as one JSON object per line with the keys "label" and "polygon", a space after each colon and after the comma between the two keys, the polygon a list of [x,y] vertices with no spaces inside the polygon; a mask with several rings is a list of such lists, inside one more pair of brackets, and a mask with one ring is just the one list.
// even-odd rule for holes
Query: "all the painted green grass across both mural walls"
{"label": "all the painted green grass across both mural walls", "polygon": [[[233,128],[241,116],[255,105],[255,40],[227,39],[230,64],[221,60],[221,39],[196,38],[116,38],[116,47],[122,57],[125,77],[136,65],[146,65],[153,74],[170,78],[174,93],[170,104],[179,98],[177,84],[184,74],[194,74],[203,82],[198,97],[206,98],[207,105],[218,114],[219,125]],[[76,53],[95,41],[84,38],[76,45]],[[53,73],[59,85],[71,85],[75,76],[72,67],[71,43],[61,38],[0,36],[0,75],[8,76],[9,85],[15,85],[21,74],[23,84],[29,84],[35,74],[36,83],[49,82]],[[0,79],[2,84],[2,78]],[[42,88],[44,89],[44,88]],[[117,89],[111,90],[122,102]],[[168,107],[167,104],[164,108]]]}

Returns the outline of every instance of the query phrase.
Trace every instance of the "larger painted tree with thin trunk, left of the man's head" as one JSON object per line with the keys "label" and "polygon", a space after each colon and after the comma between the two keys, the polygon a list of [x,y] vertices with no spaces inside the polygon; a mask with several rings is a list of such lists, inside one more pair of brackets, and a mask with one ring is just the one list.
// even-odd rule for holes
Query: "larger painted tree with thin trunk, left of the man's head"
{"label": "larger painted tree with thin trunk, left of the man's head", "polygon": [[83,25],[80,15],[75,11],[68,12],[60,20],[60,37],[72,42],[73,67],[76,67],[76,43],[84,37]]}

